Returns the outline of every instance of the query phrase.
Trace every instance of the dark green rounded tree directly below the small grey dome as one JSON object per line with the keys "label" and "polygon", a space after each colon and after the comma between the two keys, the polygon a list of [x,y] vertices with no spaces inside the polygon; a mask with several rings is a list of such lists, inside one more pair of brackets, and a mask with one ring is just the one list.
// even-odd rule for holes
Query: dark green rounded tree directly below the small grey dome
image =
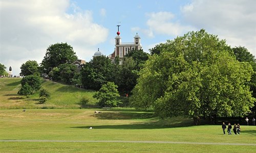
{"label": "dark green rounded tree directly below the small grey dome", "polygon": [[113,82],[115,79],[114,64],[105,56],[94,57],[81,69],[82,85],[86,89],[99,90],[106,82]]}

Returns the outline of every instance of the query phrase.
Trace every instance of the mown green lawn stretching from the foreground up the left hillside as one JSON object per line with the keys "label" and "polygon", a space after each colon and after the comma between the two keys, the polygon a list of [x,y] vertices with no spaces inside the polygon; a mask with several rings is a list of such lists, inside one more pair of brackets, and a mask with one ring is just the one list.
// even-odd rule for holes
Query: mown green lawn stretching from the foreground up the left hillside
{"label": "mown green lawn stretching from the foreground up the left hillside", "polygon": [[[39,109],[41,104],[37,104],[36,95],[25,98],[16,94],[19,86],[17,81],[20,79],[6,80],[5,83],[0,80],[0,152],[256,151],[256,126],[242,125],[241,135],[223,135],[221,125],[193,126],[189,118],[162,120],[152,112],[132,108],[72,109],[76,105],[74,108],[79,108],[77,102],[74,102],[77,100],[74,95],[87,95],[89,91],[79,89],[79,92],[73,87],[70,89],[69,86],[57,83],[52,85],[52,82],[43,85],[47,89],[52,86],[50,92],[59,94],[52,95],[46,104],[54,109]],[[74,94],[73,98],[63,98],[71,94]],[[62,98],[65,105],[55,102],[55,98]],[[23,112],[24,107],[26,112]],[[95,110],[102,113],[96,114]]]}

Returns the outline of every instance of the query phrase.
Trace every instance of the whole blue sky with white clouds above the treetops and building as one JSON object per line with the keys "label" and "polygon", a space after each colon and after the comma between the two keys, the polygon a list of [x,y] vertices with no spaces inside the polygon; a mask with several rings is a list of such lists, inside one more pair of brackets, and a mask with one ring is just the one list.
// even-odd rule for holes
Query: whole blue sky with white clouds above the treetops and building
{"label": "whole blue sky with white clouds above the treetops and building", "polygon": [[256,56],[255,0],[0,0],[0,63],[18,75],[23,63],[40,64],[47,48],[61,42],[87,62],[98,48],[109,56],[116,25],[121,25],[122,42],[133,42],[138,33],[147,53],[166,40],[205,29]]}

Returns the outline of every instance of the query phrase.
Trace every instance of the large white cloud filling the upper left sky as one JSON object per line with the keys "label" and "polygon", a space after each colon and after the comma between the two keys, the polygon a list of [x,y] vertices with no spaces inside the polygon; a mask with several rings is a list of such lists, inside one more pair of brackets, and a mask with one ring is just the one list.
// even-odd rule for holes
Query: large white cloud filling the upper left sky
{"label": "large white cloud filling the upper left sky", "polygon": [[[28,60],[41,62],[49,45],[67,42],[77,56],[91,58],[108,36],[108,29],[93,22],[92,12],[66,1],[1,1],[0,62],[15,75]],[[73,13],[67,13],[68,8]],[[95,49],[96,48],[96,49]],[[89,59],[86,59],[89,60]]]}

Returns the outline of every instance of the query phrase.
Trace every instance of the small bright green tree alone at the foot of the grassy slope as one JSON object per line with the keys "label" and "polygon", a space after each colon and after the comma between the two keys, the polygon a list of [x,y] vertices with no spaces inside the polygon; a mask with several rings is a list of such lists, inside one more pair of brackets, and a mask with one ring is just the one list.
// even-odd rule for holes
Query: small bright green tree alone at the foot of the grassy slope
{"label": "small bright green tree alone at the foot of the grassy slope", "polygon": [[99,91],[97,91],[93,97],[99,99],[99,106],[102,107],[115,107],[121,104],[118,99],[119,93],[117,90],[117,85],[114,82],[107,82],[103,84]]}

